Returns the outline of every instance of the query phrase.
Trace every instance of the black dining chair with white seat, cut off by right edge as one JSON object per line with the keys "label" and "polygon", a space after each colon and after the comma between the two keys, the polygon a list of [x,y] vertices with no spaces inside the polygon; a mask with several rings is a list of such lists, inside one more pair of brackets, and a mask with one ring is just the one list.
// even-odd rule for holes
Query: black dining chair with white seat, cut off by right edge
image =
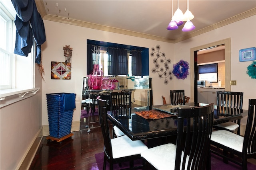
{"label": "black dining chair with white seat, cut off by right edge", "polygon": [[[248,117],[244,137],[226,130],[212,132],[211,152],[230,160],[247,170],[247,158],[256,158],[256,99],[249,99]],[[223,153],[223,154],[222,154]],[[228,156],[228,153],[232,156]],[[239,159],[236,159],[237,155]]]}

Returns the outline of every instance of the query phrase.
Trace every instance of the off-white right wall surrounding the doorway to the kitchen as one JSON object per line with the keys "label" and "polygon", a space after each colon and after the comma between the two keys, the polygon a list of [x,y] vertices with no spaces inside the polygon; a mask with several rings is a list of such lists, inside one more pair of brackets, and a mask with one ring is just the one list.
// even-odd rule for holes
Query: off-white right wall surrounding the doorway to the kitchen
{"label": "off-white right wall surrounding the doorway to the kitchen", "polygon": [[[252,79],[246,74],[247,66],[252,64],[252,61],[239,62],[238,53],[240,49],[256,47],[256,16],[176,43],[175,60],[190,61],[190,48],[226,38],[231,39],[231,80],[236,80],[236,86],[231,86],[231,91],[244,92],[243,109],[248,109],[248,99],[256,98],[256,79]],[[190,80],[176,81],[175,88],[184,88],[186,92],[190,93]],[[245,125],[246,119],[243,119],[241,124]]]}

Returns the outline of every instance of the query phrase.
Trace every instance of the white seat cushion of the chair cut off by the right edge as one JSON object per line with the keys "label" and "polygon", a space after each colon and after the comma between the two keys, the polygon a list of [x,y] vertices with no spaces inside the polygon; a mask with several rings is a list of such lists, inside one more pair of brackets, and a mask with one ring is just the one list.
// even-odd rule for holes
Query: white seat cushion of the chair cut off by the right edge
{"label": "white seat cushion of the chair cut off by the right edge", "polygon": [[213,131],[211,141],[242,152],[244,137],[226,130]]}

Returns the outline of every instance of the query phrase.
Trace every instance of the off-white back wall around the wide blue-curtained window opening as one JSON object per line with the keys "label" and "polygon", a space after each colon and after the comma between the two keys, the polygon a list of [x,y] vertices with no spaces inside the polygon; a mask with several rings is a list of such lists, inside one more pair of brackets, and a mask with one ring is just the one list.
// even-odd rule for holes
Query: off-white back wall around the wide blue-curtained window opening
{"label": "off-white back wall around the wide blue-curtained window opening", "polygon": [[[111,43],[119,43],[125,45],[134,45],[139,47],[151,48],[160,45],[160,52],[166,54],[166,58],[173,58],[173,44],[132,37],[107,31],[100,31],[85,27],[57,23],[54,21],[44,20],[46,30],[46,43],[42,45],[42,64],[45,71],[45,82],[42,83],[42,125],[48,125],[47,115],[47,93],[76,93],[76,109],[74,110],[73,122],[80,121],[80,109],[82,98],[82,78],[86,76],[86,40],[92,39],[96,41],[105,41]],[[63,47],[70,45],[72,51],[72,73],[71,80],[51,80],[51,61],[64,61]],[[164,84],[164,79],[158,78],[158,74],[153,74],[151,69],[154,67],[154,57],[149,57],[149,72],[153,79],[153,102],[154,104],[162,104],[162,95],[169,94],[169,90],[174,88],[174,79],[168,85]],[[173,63],[170,64],[172,70]],[[72,127],[73,128],[73,127]],[[78,130],[78,129],[72,129]]]}

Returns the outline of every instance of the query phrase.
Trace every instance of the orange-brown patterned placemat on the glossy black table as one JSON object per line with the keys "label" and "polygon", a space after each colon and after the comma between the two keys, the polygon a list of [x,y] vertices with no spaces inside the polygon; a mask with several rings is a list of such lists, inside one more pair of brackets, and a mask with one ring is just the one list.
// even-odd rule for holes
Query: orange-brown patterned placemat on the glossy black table
{"label": "orange-brown patterned placemat on the glossy black table", "polygon": [[137,111],[134,113],[136,113],[137,115],[145,119],[162,119],[165,117],[177,116],[177,115],[164,113],[163,111],[159,111],[159,110],[144,110],[144,111]]}

